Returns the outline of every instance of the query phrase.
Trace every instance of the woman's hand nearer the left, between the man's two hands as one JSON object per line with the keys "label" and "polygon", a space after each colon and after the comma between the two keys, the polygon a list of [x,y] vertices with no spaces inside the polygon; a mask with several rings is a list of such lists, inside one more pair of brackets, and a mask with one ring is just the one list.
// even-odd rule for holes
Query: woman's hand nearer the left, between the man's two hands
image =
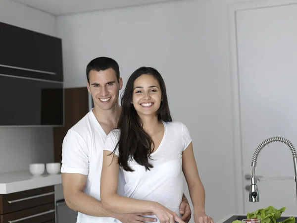
{"label": "woman's hand nearer the left, between the man's two hands", "polygon": [[185,223],[175,212],[159,203],[154,207],[153,214],[156,215],[160,223]]}

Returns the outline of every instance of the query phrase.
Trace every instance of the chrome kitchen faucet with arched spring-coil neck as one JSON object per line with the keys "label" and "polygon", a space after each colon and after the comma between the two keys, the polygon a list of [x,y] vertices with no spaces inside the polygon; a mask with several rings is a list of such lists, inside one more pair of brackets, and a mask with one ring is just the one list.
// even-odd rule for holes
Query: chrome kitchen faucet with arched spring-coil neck
{"label": "chrome kitchen faucet with arched spring-coil neck", "polygon": [[[280,179],[292,179],[292,177],[274,177],[274,178],[261,178],[261,177],[255,177],[255,167],[257,166],[257,158],[261,150],[269,143],[272,142],[282,142],[285,143],[292,152],[293,155],[293,161],[294,161],[294,170],[295,170],[295,176],[293,179],[295,180],[296,183],[296,193],[297,193],[297,153],[294,148],[294,145],[285,138],[282,137],[272,137],[269,139],[264,140],[255,150],[253,156],[252,156],[252,161],[251,161],[251,167],[252,167],[252,175],[251,175],[251,185],[249,187],[249,201],[250,202],[258,202],[259,201],[259,191],[258,191],[258,186],[257,186],[257,181],[258,180],[280,180]],[[296,194],[297,196],[297,194]]]}

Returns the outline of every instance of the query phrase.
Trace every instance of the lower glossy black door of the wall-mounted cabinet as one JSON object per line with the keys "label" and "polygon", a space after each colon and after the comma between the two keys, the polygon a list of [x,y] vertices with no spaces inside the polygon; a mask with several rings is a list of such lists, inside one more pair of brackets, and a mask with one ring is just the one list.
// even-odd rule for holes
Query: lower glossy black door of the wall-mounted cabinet
{"label": "lower glossy black door of the wall-mounted cabinet", "polygon": [[63,83],[0,74],[0,125],[63,125]]}

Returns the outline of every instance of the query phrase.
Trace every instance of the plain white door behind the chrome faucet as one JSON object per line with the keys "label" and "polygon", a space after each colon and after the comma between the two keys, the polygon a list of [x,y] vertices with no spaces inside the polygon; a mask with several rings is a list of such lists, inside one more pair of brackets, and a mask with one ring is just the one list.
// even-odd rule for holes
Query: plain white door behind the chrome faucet
{"label": "plain white door behind the chrome faucet", "polygon": [[[297,147],[297,4],[239,10],[236,13],[238,91],[243,177],[267,138],[280,136]],[[239,149],[239,148],[238,148]],[[289,147],[272,143],[257,160],[256,175],[294,176]],[[243,179],[244,187],[250,180]],[[274,206],[297,217],[295,181],[258,181],[258,203],[244,189],[244,211]]]}

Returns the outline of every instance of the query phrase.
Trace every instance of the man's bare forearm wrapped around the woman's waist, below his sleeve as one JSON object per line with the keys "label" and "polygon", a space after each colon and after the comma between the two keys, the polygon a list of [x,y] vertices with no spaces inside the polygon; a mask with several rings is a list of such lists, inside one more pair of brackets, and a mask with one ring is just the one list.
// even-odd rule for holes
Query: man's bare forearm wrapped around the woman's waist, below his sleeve
{"label": "man's bare forearm wrapped around the woman's waist, below his sleeve", "polygon": [[101,202],[90,195],[79,191],[70,198],[65,199],[68,207],[74,211],[95,217],[118,217],[117,213],[113,213],[103,208]]}

